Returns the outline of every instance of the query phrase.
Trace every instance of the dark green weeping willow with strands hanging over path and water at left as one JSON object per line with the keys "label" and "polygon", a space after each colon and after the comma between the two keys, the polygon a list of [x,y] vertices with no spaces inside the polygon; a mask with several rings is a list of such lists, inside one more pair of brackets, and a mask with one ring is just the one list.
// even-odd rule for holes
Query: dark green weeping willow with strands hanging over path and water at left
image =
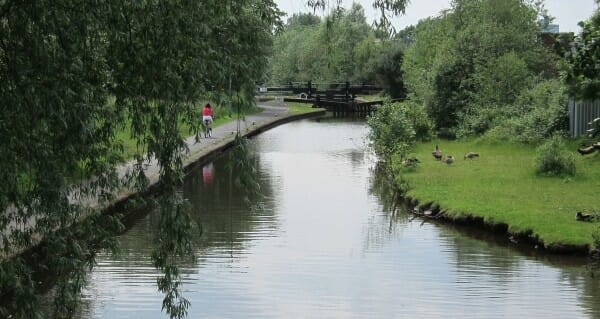
{"label": "dark green weeping willow with strands hanging over path and water at left", "polygon": [[[179,127],[197,132],[199,99],[248,90],[262,76],[280,15],[271,0],[0,1],[0,299],[12,300],[0,316],[8,308],[39,315],[34,274],[19,255],[37,238],[55,246],[56,258],[94,255],[57,234],[75,235],[67,230],[89,209],[85,198],[111,200],[123,185],[123,127],[138,142],[138,187],[147,185],[144,161],[160,166],[160,224],[185,224]],[[155,264],[165,279],[177,280],[171,255],[190,253],[185,241],[159,241]],[[177,285],[163,284],[167,312],[185,315]]]}

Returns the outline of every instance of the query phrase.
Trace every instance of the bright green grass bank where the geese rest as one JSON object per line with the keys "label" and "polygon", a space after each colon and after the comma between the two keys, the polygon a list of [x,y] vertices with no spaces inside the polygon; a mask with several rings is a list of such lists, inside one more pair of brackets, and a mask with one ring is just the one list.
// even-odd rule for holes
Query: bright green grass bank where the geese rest
{"label": "bright green grass bank where the geese rest", "polygon": [[[455,162],[434,160],[435,144]],[[469,151],[481,156],[464,160]],[[536,175],[535,148],[522,145],[434,141],[417,145],[414,154],[421,163],[402,172],[409,197],[434,202],[451,218],[478,216],[509,225],[511,233],[531,231],[546,246],[593,244],[599,223],[577,221],[575,214],[600,208],[598,154],[577,154],[577,174],[570,178]]]}

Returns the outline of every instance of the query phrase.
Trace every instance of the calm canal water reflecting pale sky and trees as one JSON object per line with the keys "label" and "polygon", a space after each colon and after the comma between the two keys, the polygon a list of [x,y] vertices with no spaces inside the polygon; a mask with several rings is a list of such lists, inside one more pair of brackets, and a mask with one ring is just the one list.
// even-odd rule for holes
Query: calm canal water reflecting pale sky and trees
{"label": "calm canal water reflecting pale sky and trees", "polygon": [[[251,140],[260,197],[225,154],[183,194],[199,225],[181,265],[189,318],[600,318],[581,261],[519,252],[450,225],[390,212],[364,121],[305,120]],[[81,318],[165,318],[145,214],[101,253]]]}

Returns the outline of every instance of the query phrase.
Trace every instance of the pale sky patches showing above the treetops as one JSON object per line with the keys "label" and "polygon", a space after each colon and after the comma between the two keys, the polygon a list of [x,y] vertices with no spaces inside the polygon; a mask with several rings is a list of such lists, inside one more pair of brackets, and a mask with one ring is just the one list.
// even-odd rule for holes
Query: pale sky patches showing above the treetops
{"label": "pale sky patches showing above the treetops", "polygon": [[[450,8],[451,0],[411,0],[404,16],[395,17],[393,20],[396,29],[401,30],[419,20],[437,16],[441,11]],[[275,0],[279,9],[291,16],[293,13],[311,12],[306,5],[307,0]],[[335,2],[330,0],[330,2]],[[350,8],[352,0],[343,0],[344,7]],[[377,14],[371,5],[371,0],[354,0],[365,8],[367,20],[372,22],[377,19]],[[553,16],[554,24],[558,24],[560,32],[579,33],[581,28],[577,25],[579,21],[587,20],[596,9],[594,0],[546,0],[546,9]]]}

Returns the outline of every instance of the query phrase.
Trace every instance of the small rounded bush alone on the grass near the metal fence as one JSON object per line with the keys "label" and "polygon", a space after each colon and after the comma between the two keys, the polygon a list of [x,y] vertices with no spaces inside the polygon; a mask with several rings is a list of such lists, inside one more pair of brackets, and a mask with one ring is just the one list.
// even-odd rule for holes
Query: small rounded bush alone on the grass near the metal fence
{"label": "small rounded bush alone on the grass near the metal fence", "polygon": [[575,175],[575,157],[565,149],[563,138],[555,134],[538,148],[536,172],[549,176]]}

